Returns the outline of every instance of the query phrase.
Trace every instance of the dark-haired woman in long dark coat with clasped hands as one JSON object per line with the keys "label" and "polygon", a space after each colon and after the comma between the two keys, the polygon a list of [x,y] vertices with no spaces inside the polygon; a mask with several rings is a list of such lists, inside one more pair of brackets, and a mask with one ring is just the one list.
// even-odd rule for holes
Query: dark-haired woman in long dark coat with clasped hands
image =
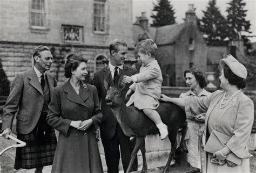
{"label": "dark-haired woman in long dark coat with clasped hands", "polygon": [[85,84],[86,60],[73,55],[65,64],[68,82],[53,91],[47,122],[59,133],[52,172],[103,172],[96,140],[102,120],[96,87]]}

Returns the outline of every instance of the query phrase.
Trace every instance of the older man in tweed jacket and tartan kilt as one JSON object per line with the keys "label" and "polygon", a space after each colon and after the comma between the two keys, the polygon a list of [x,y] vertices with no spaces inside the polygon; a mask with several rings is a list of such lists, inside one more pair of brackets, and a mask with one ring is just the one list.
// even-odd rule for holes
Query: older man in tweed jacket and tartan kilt
{"label": "older man in tweed jacket and tartan kilt", "polygon": [[55,79],[45,71],[50,70],[52,54],[46,46],[38,46],[33,53],[35,66],[16,75],[10,95],[3,110],[3,136],[8,139],[12,122],[17,114],[17,138],[26,146],[16,149],[15,169],[42,172],[51,165],[56,149],[56,136],[46,122],[48,104]]}

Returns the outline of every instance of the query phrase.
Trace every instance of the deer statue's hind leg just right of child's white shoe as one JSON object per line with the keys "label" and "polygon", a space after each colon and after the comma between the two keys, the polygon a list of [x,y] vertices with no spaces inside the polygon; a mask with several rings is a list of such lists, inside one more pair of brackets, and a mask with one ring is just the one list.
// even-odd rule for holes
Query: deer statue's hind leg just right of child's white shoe
{"label": "deer statue's hind leg just right of child's white shoe", "polygon": [[[170,126],[169,126],[170,127]],[[168,161],[165,165],[165,168],[164,168],[164,171],[163,172],[167,172],[169,167],[170,167],[170,164],[171,164],[171,161],[172,161],[172,158],[175,154],[175,151],[176,151],[176,148],[177,148],[177,140],[176,140],[176,136],[177,136],[177,132],[178,132],[178,129],[170,129],[169,128],[169,140],[171,142],[171,145],[172,145],[172,148],[171,148],[171,152],[170,152],[170,155],[169,155],[169,158],[168,158]]]}

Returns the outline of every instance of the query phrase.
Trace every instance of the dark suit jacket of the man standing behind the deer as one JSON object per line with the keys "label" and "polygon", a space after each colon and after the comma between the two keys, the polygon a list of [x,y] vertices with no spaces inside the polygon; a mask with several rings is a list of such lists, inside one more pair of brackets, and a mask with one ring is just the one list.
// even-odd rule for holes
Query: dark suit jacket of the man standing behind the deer
{"label": "dark suit jacket of the man standing behind the deer", "polygon": [[[128,66],[123,66],[123,70],[120,70],[118,77],[126,75],[132,76],[137,74],[137,70]],[[98,91],[99,100],[101,101],[101,109],[103,113],[103,120],[100,124],[100,135],[102,138],[111,139],[116,132],[117,120],[114,118],[110,107],[106,105],[105,97],[106,92],[110,86],[113,85],[113,78],[109,66],[104,67],[102,70],[95,73],[92,84],[94,84]],[[130,84],[126,84],[122,91],[122,99],[125,100],[126,92],[129,90]]]}

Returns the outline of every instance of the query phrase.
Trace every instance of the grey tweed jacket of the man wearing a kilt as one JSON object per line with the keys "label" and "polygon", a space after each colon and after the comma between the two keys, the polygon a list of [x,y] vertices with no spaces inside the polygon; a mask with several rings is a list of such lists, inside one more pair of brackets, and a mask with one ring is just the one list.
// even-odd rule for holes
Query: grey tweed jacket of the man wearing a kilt
{"label": "grey tweed jacket of the man wearing a kilt", "polygon": [[[56,80],[48,73],[50,97],[52,89],[57,86]],[[36,127],[44,104],[42,86],[38,81],[35,70],[19,73],[11,84],[10,95],[3,110],[3,127],[11,128],[17,113],[17,133],[28,134]]]}

